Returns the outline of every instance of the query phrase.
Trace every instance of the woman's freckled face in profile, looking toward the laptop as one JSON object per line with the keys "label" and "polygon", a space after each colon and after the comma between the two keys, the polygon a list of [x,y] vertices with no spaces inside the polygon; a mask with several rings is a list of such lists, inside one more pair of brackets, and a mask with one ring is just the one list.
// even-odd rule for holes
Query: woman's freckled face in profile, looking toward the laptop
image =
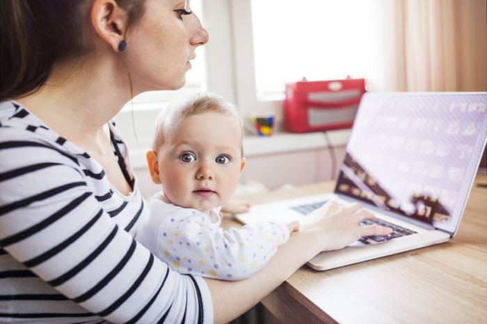
{"label": "woman's freckled face in profile, looking toward the laptop", "polygon": [[127,65],[134,92],[184,86],[196,47],[208,33],[189,0],[146,0],[145,13],[127,33]]}

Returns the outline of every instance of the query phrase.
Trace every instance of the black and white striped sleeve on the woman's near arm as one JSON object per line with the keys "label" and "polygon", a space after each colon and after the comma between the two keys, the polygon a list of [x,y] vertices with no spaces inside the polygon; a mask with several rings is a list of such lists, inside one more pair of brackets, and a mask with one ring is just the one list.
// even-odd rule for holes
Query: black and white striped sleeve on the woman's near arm
{"label": "black and white striped sleeve on the woman's near arm", "polygon": [[0,250],[113,323],[212,323],[204,280],[170,270],[118,227],[72,156],[3,139]]}

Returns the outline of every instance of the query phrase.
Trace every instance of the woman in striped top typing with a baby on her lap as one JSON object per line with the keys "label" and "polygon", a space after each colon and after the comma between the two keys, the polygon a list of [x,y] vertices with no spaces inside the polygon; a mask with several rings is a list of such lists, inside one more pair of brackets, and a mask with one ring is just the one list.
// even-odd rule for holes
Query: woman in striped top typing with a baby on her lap
{"label": "woman in striped top typing with a baby on her lap", "polygon": [[208,40],[188,2],[1,1],[0,322],[225,323],[322,250],[388,232],[328,204],[240,282],[179,275],[134,241],[147,208],[111,119],[184,85]]}

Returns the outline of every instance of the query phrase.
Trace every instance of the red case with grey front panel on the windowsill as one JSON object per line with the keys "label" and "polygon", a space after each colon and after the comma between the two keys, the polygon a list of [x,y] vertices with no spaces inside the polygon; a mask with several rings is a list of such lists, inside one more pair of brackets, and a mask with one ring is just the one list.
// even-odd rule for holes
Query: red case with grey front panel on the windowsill
{"label": "red case with grey front panel on the windowsill", "polygon": [[350,128],[364,93],[365,79],[289,83],[285,127],[297,133]]}

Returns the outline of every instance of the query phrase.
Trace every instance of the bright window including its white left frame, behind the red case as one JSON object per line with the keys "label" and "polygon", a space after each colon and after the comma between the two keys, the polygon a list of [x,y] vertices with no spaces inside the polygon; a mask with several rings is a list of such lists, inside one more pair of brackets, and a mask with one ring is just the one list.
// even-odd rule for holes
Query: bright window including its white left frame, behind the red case
{"label": "bright window including its white left frame, behind the red case", "polygon": [[237,104],[281,118],[285,83],[364,77],[383,88],[383,0],[232,0]]}

